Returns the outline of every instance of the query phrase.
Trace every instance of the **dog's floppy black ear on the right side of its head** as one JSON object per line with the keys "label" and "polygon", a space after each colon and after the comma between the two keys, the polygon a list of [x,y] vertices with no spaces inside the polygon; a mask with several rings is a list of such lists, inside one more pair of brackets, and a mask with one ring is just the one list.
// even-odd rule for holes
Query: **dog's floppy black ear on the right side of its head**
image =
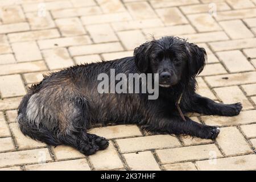
{"label": "dog's floppy black ear on the right side of its head", "polygon": [[207,61],[207,53],[204,48],[196,46],[196,44],[185,43],[188,53],[188,71],[191,77],[195,77],[204,69]]}

